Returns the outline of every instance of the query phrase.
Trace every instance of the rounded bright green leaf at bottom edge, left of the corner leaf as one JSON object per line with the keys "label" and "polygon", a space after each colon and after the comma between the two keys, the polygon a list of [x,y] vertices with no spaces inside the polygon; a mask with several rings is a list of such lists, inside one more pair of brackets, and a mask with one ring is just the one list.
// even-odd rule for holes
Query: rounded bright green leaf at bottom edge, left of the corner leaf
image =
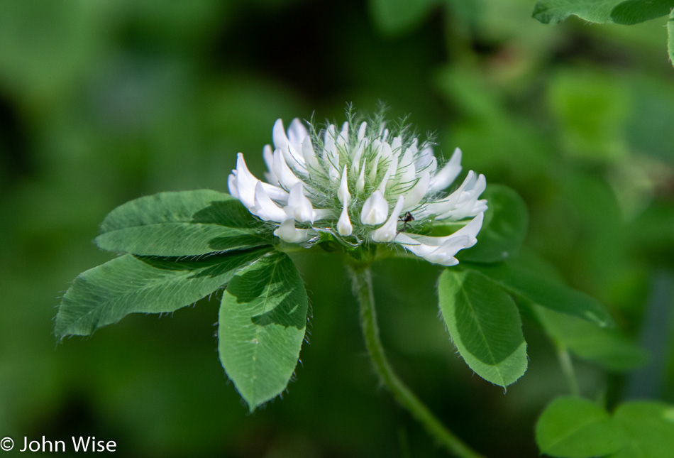
{"label": "rounded bright green leaf at bottom edge, left of the corner leaf", "polygon": [[624,437],[599,405],[563,396],[553,400],[538,419],[536,443],[541,453],[553,457],[603,457],[621,449]]}

